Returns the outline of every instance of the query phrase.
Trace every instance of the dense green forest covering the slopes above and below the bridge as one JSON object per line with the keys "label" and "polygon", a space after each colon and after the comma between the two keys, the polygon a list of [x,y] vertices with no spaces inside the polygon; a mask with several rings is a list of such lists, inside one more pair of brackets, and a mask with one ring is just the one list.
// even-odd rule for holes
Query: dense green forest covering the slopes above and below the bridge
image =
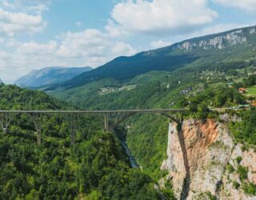
{"label": "dense green forest covering the slopes above and below the bridge", "polygon": [[[182,45],[178,43],[129,58],[116,58],[69,82],[46,86],[47,94],[1,85],[0,108],[187,108],[184,118],[220,120],[214,109],[226,111],[252,100],[238,93],[239,87],[256,85],[256,41],[249,31],[250,28],[243,31],[247,42],[226,45],[224,49],[194,47],[190,51],[178,48]],[[235,142],[255,146],[255,111],[230,111],[241,118],[230,123]],[[110,122],[120,117],[121,114],[111,115]],[[134,114],[115,132],[105,133],[102,118],[80,116],[75,123],[75,146],[70,146],[69,120],[58,114],[41,116],[43,138],[42,146],[38,146],[30,116],[14,118],[8,134],[1,133],[0,137],[0,197],[174,199],[169,182],[166,190],[158,187],[158,180],[166,175],[160,166],[166,159],[169,118]],[[120,138],[126,140],[141,170],[132,169]],[[244,169],[240,170],[243,174]]]}

